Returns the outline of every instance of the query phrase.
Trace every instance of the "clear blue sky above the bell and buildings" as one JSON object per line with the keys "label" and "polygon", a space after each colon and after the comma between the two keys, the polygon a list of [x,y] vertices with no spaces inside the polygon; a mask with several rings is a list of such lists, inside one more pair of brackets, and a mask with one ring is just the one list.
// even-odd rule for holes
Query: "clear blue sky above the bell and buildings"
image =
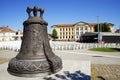
{"label": "clear blue sky above the bell and buildings", "polygon": [[48,32],[55,24],[109,22],[120,27],[120,0],[0,0],[0,26],[23,30],[27,6],[44,8]]}

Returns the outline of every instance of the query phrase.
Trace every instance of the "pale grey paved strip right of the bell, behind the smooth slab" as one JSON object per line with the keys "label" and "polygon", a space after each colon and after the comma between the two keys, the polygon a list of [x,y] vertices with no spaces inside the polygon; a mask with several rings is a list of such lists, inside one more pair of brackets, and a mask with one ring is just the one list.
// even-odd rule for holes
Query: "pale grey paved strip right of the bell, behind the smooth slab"
{"label": "pale grey paved strip right of the bell, behind the smooth slab", "polygon": [[91,61],[92,64],[120,64],[120,53],[88,52],[86,50],[54,51],[54,53],[65,60],[85,60]]}

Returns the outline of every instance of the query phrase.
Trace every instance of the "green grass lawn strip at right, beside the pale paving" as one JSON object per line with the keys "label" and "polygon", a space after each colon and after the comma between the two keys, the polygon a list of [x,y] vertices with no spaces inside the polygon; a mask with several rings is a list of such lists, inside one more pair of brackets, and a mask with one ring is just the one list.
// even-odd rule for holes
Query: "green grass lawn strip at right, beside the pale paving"
{"label": "green grass lawn strip at right, beside the pale paving", "polygon": [[91,48],[88,50],[100,51],[100,52],[120,52],[120,49],[118,49],[118,48]]}

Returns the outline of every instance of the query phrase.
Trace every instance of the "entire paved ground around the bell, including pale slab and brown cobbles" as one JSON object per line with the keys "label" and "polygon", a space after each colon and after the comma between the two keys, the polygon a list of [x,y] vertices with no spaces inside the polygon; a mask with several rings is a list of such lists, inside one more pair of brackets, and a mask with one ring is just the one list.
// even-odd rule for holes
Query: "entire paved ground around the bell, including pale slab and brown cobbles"
{"label": "entire paved ground around the bell, including pale slab and brown cobbles", "polygon": [[[119,80],[120,78],[120,53],[93,52],[86,49],[57,51],[54,53],[63,60],[63,69],[55,75],[47,76],[44,79],[34,80],[75,80],[65,76],[66,72],[84,73],[88,78],[91,74],[98,77],[98,80]],[[18,54],[15,51],[0,51],[0,58],[13,58]],[[33,80],[31,78],[19,78],[9,75],[6,71],[7,63],[0,64],[0,80]],[[90,66],[91,65],[91,66]],[[9,78],[7,78],[7,77]],[[78,76],[77,76],[78,77]],[[79,80],[79,79],[78,79]]]}

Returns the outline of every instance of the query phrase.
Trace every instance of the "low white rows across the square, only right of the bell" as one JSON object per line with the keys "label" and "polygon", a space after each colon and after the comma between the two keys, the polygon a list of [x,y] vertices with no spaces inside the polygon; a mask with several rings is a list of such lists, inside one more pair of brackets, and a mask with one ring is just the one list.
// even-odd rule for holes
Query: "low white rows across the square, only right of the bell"
{"label": "low white rows across the square, only right of the bell", "polygon": [[53,50],[80,50],[89,48],[120,48],[120,43],[77,43],[77,42],[51,42]]}

